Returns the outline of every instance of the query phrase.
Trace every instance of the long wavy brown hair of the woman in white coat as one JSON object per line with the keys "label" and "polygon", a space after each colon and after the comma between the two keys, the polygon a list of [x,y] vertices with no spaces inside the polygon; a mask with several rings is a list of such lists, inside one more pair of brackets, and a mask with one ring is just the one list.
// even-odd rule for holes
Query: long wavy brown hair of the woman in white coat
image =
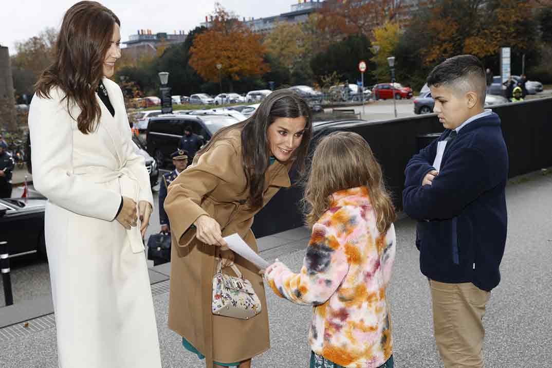
{"label": "long wavy brown hair of the woman in white coat", "polygon": [[72,105],[78,106],[81,113],[76,120],[83,134],[93,132],[102,116],[95,91],[103,77],[115,23],[121,25],[119,18],[98,2],[73,5],[65,13],[57,36],[56,59],[36,82],[39,97],[51,98],[50,90],[58,87],[65,93],[69,114]]}

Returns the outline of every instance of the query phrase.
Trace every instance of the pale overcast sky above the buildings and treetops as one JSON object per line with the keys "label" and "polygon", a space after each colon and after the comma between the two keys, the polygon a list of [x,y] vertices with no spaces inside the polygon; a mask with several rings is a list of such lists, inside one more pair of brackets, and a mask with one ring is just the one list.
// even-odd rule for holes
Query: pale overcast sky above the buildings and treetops
{"label": "pale overcast sky above the buildings and treetops", "polygon": [[[36,36],[46,27],[60,28],[63,14],[77,1],[73,0],[0,0],[0,45],[15,54],[15,42]],[[103,0],[121,20],[121,37],[138,29],[152,33],[184,30],[188,33],[213,12],[215,0]],[[240,17],[270,17],[287,13],[298,0],[218,0],[226,9]]]}

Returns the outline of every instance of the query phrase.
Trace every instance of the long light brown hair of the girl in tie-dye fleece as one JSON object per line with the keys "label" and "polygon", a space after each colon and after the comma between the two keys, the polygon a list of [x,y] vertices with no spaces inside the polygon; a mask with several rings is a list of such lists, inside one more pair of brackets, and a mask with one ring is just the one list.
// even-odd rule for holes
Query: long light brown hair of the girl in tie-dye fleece
{"label": "long light brown hair of the girl in tie-dye fleece", "polygon": [[395,221],[395,207],[385,189],[381,167],[364,138],[353,132],[334,132],[320,140],[305,185],[305,222],[312,227],[330,207],[336,191],[367,186],[380,233]]}

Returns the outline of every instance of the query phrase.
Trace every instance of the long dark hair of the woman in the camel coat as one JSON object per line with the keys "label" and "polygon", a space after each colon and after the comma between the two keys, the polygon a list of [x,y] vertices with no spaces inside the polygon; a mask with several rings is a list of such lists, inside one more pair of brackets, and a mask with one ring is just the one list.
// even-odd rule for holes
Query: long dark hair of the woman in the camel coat
{"label": "long dark hair of the woman in the camel coat", "polygon": [[241,129],[242,167],[250,188],[250,206],[254,209],[259,208],[263,205],[264,173],[270,165],[268,127],[278,118],[301,117],[306,120],[305,132],[301,145],[295,150],[290,161],[293,161],[294,168],[302,173],[312,137],[312,113],[309,104],[289,89],[270,93],[250,118],[217,131],[209,144],[198,154],[209,150],[217,140],[224,139],[227,132]]}

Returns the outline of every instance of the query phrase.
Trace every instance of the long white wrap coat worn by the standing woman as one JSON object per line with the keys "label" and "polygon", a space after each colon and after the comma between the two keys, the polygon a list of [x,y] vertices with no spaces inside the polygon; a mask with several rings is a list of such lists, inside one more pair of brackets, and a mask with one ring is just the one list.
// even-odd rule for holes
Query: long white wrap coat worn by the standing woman
{"label": "long white wrap coat worn by the standing woman", "polygon": [[[44,231],[60,368],[161,368],[139,226],[115,220],[121,195],[153,204],[144,158],[131,140],[123,93],[103,79],[115,116],[91,134],[65,93],[35,95],[29,110],[35,188],[48,198]],[[70,114],[71,113],[71,114]],[[71,118],[73,116],[75,119]]]}

